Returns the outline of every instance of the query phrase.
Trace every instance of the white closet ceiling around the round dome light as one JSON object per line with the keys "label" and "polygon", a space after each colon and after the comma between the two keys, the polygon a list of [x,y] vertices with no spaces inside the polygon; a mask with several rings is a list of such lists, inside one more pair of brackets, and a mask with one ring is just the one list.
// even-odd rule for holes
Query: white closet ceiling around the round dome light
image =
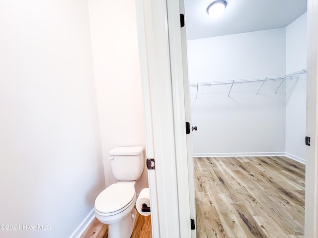
{"label": "white closet ceiling around the round dome light", "polygon": [[207,13],[215,0],[184,0],[187,39],[286,27],[307,11],[307,0],[226,0],[219,18]]}

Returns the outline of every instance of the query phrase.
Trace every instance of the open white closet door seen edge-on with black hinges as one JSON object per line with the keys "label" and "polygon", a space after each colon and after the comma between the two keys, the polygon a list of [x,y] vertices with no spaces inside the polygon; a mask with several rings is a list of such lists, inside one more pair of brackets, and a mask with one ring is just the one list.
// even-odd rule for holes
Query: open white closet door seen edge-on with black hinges
{"label": "open white closet door seen edge-on with black hinges", "polygon": [[[184,13],[183,0],[166,0],[167,31],[171,68],[174,137],[180,237],[196,238],[194,170],[191,133],[186,134],[186,123],[191,124],[190,97],[187,72],[185,27],[181,28],[180,13]],[[191,132],[191,125],[190,125]],[[192,224],[191,224],[192,223]],[[191,226],[192,225],[192,226]],[[193,229],[193,230],[192,230]]]}

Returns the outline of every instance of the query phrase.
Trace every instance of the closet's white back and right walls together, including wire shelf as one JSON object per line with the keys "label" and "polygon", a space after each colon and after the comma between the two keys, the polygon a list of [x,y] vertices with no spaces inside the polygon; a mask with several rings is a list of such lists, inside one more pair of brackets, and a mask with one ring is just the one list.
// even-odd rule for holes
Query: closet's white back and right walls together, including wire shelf
{"label": "closet's white back and right walls together, including wire shelf", "polygon": [[305,163],[306,35],[305,13],[285,28],[187,41],[194,157]]}

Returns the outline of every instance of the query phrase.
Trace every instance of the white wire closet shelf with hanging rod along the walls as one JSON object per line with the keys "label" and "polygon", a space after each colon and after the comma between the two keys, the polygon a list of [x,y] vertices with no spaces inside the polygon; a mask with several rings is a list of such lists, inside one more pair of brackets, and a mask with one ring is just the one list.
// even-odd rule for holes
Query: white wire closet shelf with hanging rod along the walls
{"label": "white wire closet shelf with hanging rod along the walls", "polygon": [[214,86],[214,85],[227,85],[227,84],[238,84],[238,83],[253,83],[253,82],[264,82],[273,81],[273,80],[283,80],[293,79],[301,74],[307,73],[306,69],[287,74],[280,77],[264,77],[264,78],[252,78],[252,79],[239,79],[239,80],[228,80],[228,81],[214,81],[214,82],[202,82],[202,83],[191,83],[189,87],[202,87],[202,86]]}

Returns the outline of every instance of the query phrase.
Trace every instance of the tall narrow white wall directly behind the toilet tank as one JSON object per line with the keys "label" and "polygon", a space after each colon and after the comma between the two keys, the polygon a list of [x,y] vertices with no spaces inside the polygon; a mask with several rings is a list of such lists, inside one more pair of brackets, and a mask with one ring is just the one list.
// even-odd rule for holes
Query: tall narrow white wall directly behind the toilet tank
{"label": "tall narrow white wall directly behind the toilet tank", "polygon": [[[109,151],[145,146],[135,1],[88,0],[105,183],[116,182]],[[146,158],[145,158],[146,159]],[[136,192],[148,187],[147,169]]]}

